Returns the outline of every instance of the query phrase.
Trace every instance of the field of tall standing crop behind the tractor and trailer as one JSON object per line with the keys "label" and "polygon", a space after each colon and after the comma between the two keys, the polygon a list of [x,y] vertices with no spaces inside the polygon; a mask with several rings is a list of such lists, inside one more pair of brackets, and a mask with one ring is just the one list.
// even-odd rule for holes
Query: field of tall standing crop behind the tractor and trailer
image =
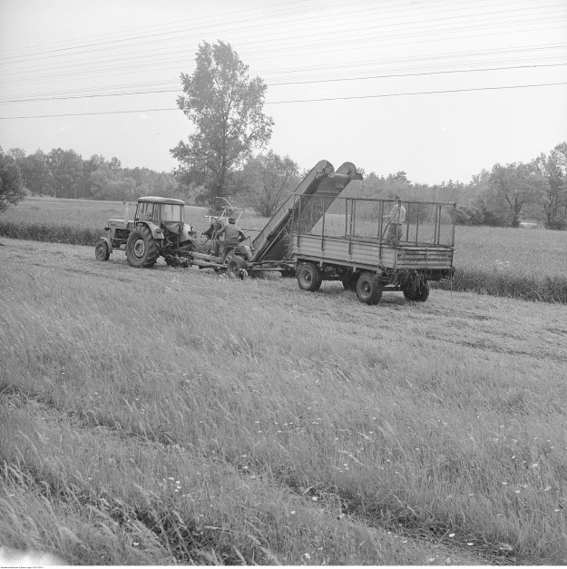
{"label": "field of tall standing crop behind the tractor and trailer", "polygon": [[[205,212],[203,208],[185,208],[186,219],[199,232],[208,225]],[[0,217],[0,237],[94,245],[106,221],[123,215],[119,201],[28,198]],[[240,226],[261,229],[266,221],[247,213]],[[435,286],[567,303],[567,232],[459,226],[455,231],[455,269],[455,280]]]}

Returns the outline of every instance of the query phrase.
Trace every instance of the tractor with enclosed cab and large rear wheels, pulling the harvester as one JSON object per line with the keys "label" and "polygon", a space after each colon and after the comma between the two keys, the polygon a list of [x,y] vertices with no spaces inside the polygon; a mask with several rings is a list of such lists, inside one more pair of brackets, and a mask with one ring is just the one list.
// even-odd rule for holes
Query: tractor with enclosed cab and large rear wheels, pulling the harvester
{"label": "tractor with enclosed cab and large rear wheels, pulling the harvester", "polygon": [[94,248],[97,260],[108,260],[112,250],[126,251],[132,267],[149,268],[161,256],[170,267],[188,267],[196,249],[193,227],[184,221],[185,202],[173,198],[139,198],[133,221],[112,219]]}

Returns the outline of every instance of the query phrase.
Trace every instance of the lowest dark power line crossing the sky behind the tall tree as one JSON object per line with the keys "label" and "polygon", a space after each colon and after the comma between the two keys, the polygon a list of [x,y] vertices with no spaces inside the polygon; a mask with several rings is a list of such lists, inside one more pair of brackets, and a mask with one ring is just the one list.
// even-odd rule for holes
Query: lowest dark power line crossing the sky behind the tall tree
{"label": "lowest dark power line crossing the sky behind the tall tree", "polygon": [[[401,97],[409,95],[423,95],[423,94],[441,94],[441,93],[467,93],[474,91],[498,91],[503,89],[525,89],[529,87],[552,87],[556,85],[567,85],[567,82],[560,83],[535,83],[530,85],[505,85],[499,87],[471,87],[467,89],[446,89],[442,91],[417,91],[407,93],[381,93],[372,95],[351,95],[347,97],[324,97],[320,99],[296,99],[292,101],[271,101],[264,104],[288,104],[288,103],[320,103],[324,101],[350,101],[357,99],[378,99],[385,97]],[[10,121],[14,119],[44,119],[64,116],[90,116],[99,114],[129,114],[129,113],[159,113],[162,111],[180,111],[179,108],[165,108],[165,109],[139,109],[130,111],[102,111],[95,113],[62,113],[62,114],[35,114],[29,116],[5,116],[0,117],[0,121]]]}

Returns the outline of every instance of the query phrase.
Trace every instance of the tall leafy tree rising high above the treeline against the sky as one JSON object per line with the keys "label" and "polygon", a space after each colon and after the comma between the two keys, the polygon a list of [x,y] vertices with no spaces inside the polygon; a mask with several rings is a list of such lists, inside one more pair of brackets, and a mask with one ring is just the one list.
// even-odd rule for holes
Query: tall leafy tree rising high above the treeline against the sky
{"label": "tall leafy tree rising high above the treeline against the sky", "polygon": [[249,78],[248,65],[230,44],[200,44],[193,74],[181,74],[181,111],[194,125],[189,142],[171,155],[186,185],[202,185],[205,198],[234,191],[234,172],[252,150],[271,138],[272,119],[262,113],[266,84]]}

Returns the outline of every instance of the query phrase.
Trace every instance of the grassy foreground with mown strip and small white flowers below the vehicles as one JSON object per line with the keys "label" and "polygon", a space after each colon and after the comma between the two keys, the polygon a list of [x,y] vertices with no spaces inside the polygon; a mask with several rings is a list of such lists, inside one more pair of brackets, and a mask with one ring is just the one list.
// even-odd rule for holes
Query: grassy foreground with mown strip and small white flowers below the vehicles
{"label": "grassy foreground with mown strip and small white flowers below the vehicles", "polygon": [[567,563],[567,309],[440,290],[367,307],[32,241],[0,262],[0,545]]}

